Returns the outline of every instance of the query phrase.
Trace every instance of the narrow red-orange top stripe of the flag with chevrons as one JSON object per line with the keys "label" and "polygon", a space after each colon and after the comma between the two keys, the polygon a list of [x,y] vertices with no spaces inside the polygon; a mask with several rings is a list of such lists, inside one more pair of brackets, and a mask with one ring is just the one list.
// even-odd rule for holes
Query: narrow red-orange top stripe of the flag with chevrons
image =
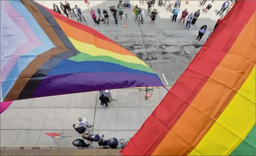
{"label": "narrow red-orange top stripe of the flag with chevrons", "polygon": [[[39,4],[41,5],[41,4]],[[43,5],[41,5],[42,7],[44,7]],[[46,8],[46,7],[44,7]],[[47,11],[52,14],[53,17],[57,18],[57,19],[60,19],[62,20],[63,22],[73,26],[73,27],[76,27],[77,29],[80,29],[80,30],[83,30],[87,33],[90,33],[92,35],[94,35],[96,38],[100,38],[100,39],[103,39],[105,41],[108,41],[108,42],[111,42],[111,43],[114,43],[116,45],[118,45],[116,42],[112,41],[111,39],[109,39],[108,37],[104,36],[103,34],[100,34],[100,32],[92,29],[91,27],[88,27],[84,24],[81,24],[81,23],[78,23],[76,21],[73,21],[72,19],[69,19],[67,17],[65,17],[64,15],[60,15],[59,13],[55,12],[55,11],[52,11],[51,9],[49,8],[46,8]],[[78,34],[79,35],[79,34]]]}

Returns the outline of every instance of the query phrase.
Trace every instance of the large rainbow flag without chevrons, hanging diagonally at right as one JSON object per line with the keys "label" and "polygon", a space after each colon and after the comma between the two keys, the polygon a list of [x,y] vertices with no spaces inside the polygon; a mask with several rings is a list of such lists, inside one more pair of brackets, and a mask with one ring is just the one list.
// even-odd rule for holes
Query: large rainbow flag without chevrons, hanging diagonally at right
{"label": "large rainbow flag without chevrons, hanging diagonally at right", "polygon": [[237,1],[124,156],[255,156],[255,1]]}

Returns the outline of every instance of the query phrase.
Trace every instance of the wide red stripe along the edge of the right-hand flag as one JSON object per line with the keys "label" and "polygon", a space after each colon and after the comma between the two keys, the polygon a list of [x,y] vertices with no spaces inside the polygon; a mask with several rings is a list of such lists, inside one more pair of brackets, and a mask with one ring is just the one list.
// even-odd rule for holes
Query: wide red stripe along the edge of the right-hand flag
{"label": "wide red stripe along the edge of the right-hand flag", "polygon": [[250,1],[238,1],[235,4],[152,115],[121,151],[123,155],[132,155],[131,151],[135,149],[136,155],[152,154],[226,56],[253,15],[253,11],[241,11],[241,8],[249,5]]}

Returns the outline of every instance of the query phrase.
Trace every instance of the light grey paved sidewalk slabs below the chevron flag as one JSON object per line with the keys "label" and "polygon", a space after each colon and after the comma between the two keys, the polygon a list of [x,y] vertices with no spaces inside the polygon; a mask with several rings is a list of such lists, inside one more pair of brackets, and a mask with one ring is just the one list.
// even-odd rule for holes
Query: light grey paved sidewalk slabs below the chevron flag
{"label": "light grey paved sidewalk slabs below the chevron flag", "polygon": [[60,147],[72,147],[72,141],[81,138],[72,127],[79,117],[93,125],[88,129],[91,133],[104,134],[106,139],[128,139],[167,93],[164,88],[155,88],[146,101],[146,92],[138,88],[110,92],[117,101],[107,108],[100,105],[97,91],[14,101],[0,114],[0,146],[56,147],[56,142],[44,134],[55,132],[72,136],[57,141]]}

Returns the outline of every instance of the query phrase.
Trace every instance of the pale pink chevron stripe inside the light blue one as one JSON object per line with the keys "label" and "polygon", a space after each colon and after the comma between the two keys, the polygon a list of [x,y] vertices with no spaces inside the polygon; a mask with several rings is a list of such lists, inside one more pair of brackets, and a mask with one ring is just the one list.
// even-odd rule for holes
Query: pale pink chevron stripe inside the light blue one
{"label": "pale pink chevron stripe inside the light blue one", "polygon": [[19,45],[15,52],[12,54],[8,61],[1,70],[1,84],[3,80],[7,77],[9,72],[12,70],[13,66],[16,64],[20,55],[31,51],[32,49],[42,45],[40,40],[36,37],[34,32],[28,26],[26,20],[8,3],[7,0],[4,1],[4,12],[23,30],[23,33],[28,38],[28,41]]}

